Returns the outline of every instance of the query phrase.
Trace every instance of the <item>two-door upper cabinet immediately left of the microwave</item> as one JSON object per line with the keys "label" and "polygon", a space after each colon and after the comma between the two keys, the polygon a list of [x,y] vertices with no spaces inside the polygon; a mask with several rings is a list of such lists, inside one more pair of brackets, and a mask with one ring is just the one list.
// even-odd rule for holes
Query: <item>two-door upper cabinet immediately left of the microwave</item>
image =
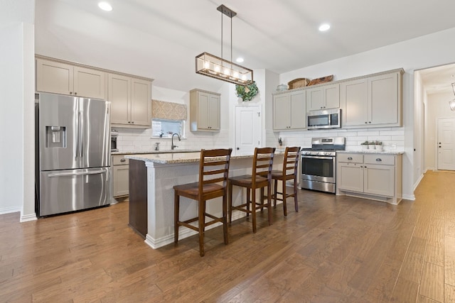
{"label": "two-door upper cabinet immediately left of the microwave", "polygon": [[304,90],[273,96],[273,129],[286,131],[306,128],[306,94]]}

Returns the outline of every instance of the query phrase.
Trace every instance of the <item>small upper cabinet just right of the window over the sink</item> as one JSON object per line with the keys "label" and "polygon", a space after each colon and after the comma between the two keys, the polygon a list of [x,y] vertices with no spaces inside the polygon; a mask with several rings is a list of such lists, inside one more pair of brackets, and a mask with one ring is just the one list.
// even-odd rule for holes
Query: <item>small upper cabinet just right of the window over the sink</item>
{"label": "small upper cabinet just right of the window over the sink", "polygon": [[191,90],[190,130],[220,131],[220,94]]}

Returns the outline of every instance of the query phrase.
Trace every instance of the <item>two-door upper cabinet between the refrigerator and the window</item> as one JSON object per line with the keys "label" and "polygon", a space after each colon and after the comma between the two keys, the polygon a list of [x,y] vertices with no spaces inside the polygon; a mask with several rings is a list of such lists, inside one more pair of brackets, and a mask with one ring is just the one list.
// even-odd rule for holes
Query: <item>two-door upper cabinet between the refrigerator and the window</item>
{"label": "two-door upper cabinet between the refrigerator and the window", "polygon": [[151,127],[151,81],[109,74],[111,124],[120,127]]}

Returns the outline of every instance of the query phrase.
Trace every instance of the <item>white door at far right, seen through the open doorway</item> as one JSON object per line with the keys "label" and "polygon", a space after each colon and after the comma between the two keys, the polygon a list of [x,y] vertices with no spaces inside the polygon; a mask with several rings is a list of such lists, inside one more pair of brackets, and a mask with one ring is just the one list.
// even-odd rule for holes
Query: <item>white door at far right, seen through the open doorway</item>
{"label": "white door at far right, seen through the open doorway", "polygon": [[438,170],[455,170],[455,118],[438,119]]}

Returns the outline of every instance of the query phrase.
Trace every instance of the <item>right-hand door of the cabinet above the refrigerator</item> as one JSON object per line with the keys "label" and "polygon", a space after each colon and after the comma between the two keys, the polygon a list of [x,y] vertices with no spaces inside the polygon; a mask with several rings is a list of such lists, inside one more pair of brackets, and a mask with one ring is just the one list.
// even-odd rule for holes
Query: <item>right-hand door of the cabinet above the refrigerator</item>
{"label": "right-hand door of the cabinet above the refrigerator", "polygon": [[74,67],[74,94],[80,97],[105,99],[105,72]]}

